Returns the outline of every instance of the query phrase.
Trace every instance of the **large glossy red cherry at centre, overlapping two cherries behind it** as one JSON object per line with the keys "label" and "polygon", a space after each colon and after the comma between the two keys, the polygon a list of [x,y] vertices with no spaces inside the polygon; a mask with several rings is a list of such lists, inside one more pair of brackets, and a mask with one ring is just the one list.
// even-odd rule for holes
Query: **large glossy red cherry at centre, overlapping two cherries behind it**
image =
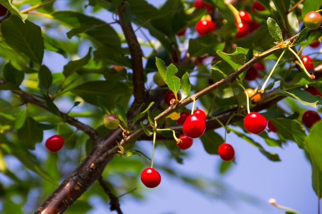
{"label": "large glossy red cherry at centre, overlapping two cherries behind it", "polygon": [[183,133],[189,138],[199,138],[205,130],[205,120],[194,114],[189,115],[182,126]]}

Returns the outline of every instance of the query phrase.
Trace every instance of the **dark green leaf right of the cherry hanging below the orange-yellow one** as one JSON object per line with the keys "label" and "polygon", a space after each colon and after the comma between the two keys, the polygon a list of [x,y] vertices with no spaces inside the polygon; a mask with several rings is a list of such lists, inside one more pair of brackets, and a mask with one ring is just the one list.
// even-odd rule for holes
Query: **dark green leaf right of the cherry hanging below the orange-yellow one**
{"label": "dark green leaf right of the cherry hanging below the orange-yellow one", "polygon": [[279,118],[272,120],[272,123],[283,138],[294,141],[299,148],[303,148],[306,133],[303,126],[298,121]]}

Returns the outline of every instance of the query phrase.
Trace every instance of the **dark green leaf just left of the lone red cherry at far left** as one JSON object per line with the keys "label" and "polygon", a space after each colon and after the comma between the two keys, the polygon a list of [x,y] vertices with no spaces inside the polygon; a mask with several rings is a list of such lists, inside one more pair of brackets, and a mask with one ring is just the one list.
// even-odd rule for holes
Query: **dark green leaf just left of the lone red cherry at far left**
{"label": "dark green leaf just left of the lone red cherry at far left", "polygon": [[18,139],[28,148],[34,150],[35,143],[43,140],[43,131],[36,128],[37,122],[27,116],[24,125],[17,130]]}

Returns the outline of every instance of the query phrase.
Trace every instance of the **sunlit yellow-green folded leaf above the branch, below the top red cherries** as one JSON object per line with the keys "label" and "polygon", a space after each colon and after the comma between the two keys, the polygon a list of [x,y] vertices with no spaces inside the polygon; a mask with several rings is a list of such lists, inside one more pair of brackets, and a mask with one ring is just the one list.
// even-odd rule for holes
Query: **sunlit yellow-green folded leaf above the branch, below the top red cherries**
{"label": "sunlit yellow-green folded leaf above the branch, below the top red cherries", "polygon": [[234,53],[225,53],[221,50],[217,51],[217,54],[226,61],[234,70],[237,70],[245,63],[245,55],[247,51],[244,48],[237,47]]}

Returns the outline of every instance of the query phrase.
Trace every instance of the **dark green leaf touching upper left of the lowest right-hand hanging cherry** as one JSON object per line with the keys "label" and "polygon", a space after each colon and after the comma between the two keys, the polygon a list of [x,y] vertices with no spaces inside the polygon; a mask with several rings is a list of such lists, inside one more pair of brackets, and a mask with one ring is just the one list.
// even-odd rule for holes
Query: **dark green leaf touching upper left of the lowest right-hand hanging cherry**
{"label": "dark green leaf touching upper left of the lowest right-hand hanging cherry", "polygon": [[208,154],[218,154],[218,147],[224,143],[224,139],[214,131],[207,131],[200,140]]}

